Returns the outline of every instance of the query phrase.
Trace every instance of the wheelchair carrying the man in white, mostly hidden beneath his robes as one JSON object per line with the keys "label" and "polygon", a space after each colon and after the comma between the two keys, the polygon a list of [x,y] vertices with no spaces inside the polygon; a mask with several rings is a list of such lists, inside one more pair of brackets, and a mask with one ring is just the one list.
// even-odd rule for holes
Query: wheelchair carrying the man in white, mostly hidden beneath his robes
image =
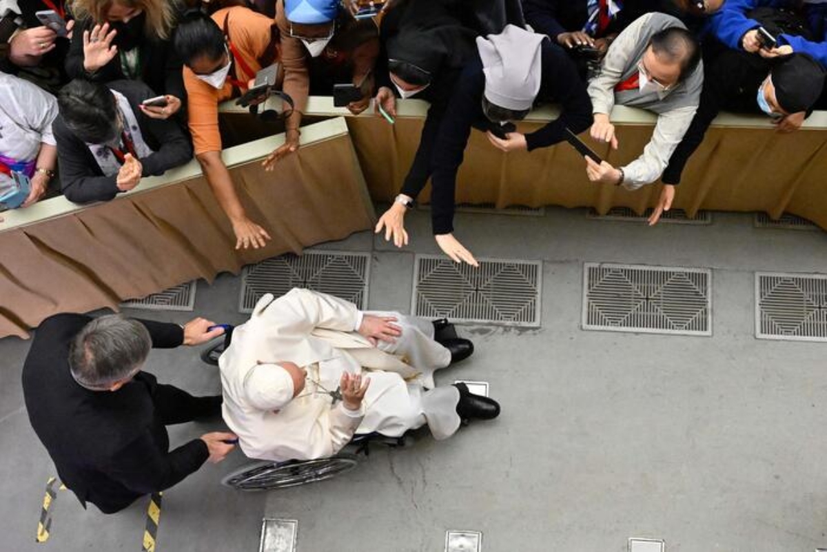
{"label": "wheelchair carrying the man in white, mostly hidden beneath his robes", "polygon": [[[201,353],[201,359],[206,364],[218,366],[218,359],[232,341],[233,326],[221,326],[224,328],[224,339],[208,346]],[[409,431],[399,437],[389,437],[380,433],[354,435],[341,452],[330,458],[284,462],[254,460],[228,473],[222,478],[221,484],[240,491],[272,491],[324,481],[356,468],[360,458],[370,454],[372,445],[390,448],[408,446],[413,440],[412,433],[414,432]]]}

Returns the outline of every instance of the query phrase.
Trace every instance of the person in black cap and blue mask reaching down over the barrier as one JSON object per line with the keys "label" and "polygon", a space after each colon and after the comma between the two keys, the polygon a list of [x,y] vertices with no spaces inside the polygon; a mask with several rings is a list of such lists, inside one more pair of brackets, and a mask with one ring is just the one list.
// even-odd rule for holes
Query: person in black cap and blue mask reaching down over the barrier
{"label": "person in black cap and blue mask reaching down over the barrier", "polygon": [[669,159],[663,183],[681,183],[686,162],[720,111],[762,113],[778,131],[795,131],[810,117],[824,83],[825,69],[807,54],[766,60],[735,50],[724,52],[708,64],[700,107]]}

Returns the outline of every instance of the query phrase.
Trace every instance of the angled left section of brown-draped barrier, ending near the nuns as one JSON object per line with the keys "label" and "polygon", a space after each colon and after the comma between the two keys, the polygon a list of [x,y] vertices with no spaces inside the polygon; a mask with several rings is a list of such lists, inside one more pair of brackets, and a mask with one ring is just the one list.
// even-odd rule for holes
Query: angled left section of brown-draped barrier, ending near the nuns
{"label": "angled left section of brown-draped barrier, ending near the nuns", "polygon": [[224,150],[249,217],[273,240],[235,250],[232,226],[196,161],[144,178],[112,202],[79,206],[54,197],[0,213],[0,336],[25,337],[55,312],[117,309],[194,278],[212,281],[244,264],[366,230],[375,212],[345,121],[302,130],[299,155],[265,172],[284,143],[270,136]]}

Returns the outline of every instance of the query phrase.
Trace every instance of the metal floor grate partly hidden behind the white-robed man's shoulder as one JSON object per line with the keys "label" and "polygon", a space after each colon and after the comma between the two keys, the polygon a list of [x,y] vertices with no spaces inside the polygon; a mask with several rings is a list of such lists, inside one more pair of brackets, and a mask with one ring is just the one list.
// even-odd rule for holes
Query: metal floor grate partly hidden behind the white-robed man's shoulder
{"label": "metal floor grate partly hidden behind the white-robed man's shoulder", "polygon": [[240,312],[253,312],[265,293],[280,297],[293,288],[329,293],[367,308],[370,254],[305,251],[281,255],[244,267],[241,274]]}

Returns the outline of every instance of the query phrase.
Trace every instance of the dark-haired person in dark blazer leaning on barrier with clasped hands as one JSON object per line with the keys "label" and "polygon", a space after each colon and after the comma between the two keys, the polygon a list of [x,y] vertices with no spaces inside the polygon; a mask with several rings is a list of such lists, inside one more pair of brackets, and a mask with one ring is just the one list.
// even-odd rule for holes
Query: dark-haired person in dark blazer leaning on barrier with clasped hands
{"label": "dark-haired person in dark blazer leaning on barrier with clasped hands", "polygon": [[174,121],[139,109],[154,93],[143,83],[74,79],[57,98],[54,133],[60,187],[76,203],[109,201],[145,176],[189,162],[193,149]]}

